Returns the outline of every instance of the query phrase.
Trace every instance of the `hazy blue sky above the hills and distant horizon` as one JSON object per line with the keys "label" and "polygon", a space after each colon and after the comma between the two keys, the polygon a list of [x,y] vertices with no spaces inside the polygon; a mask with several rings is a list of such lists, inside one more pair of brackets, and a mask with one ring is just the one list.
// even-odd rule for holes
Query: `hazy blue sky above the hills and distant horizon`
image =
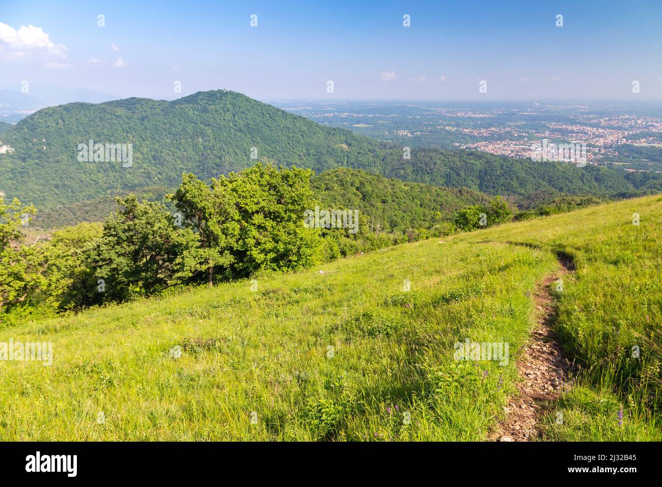
{"label": "hazy blue sky above the hills and distant horizon", "polygon": [[28,80],[166,99],[226,88],[258,99],[662,100],[659,1],[3,0],[0,23],[5,89]]}

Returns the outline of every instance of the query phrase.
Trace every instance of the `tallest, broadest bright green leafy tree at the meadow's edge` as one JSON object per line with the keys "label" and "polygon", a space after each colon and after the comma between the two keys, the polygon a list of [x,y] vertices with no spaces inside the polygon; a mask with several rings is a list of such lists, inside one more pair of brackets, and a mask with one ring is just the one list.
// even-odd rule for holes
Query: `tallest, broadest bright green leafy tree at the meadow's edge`
{"label": "tallest, broadest bright green leafy tree at the meadow's edge", "polygon": [[215,270],[237,278],[260,270],[301,270],[318,262],[319,231],[303,225],[305,210],[316,204],[311,175],[295,166],[278,170],[261,163],[210,184],[184,174],[171,199],[200,243],[185,260],[205,270],[210,285]]}

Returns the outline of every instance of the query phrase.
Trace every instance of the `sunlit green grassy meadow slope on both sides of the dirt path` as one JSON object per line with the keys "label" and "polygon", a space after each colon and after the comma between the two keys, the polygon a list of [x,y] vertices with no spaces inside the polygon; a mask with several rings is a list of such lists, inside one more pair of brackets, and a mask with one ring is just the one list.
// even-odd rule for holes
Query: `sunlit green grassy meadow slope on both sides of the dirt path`
{"label": "sunlit green grassy meadow slope on both sides of the dirt path", "polygon": [[[488,439],[563,252],[579,372],[543,438],[660,440],[661,241],[658,195],[2,329],[54,354],[0,360],[0,439]],[[507,342],[508,364],[453,360],[467,338]]]}

